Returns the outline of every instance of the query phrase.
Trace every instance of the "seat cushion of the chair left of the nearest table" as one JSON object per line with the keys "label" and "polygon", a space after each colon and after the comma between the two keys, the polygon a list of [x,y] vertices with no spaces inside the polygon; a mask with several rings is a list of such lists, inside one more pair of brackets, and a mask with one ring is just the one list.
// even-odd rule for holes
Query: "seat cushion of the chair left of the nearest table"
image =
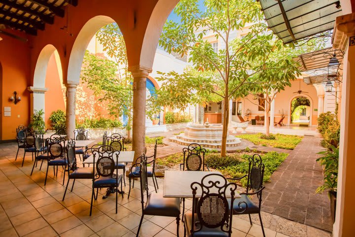
{"label": "seat cushion of the chair left of the nearest table", "polygon": [[162,193],[148,195],[144,215],[174,216],[180,215],[180,199],[178,197],[163,197]]}

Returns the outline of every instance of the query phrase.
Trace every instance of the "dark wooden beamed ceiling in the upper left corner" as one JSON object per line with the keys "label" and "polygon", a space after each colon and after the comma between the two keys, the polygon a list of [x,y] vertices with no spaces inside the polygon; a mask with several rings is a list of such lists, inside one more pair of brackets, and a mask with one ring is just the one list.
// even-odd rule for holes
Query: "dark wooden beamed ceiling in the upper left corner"
{"label": "dark wooden beamed ceiling in the upper left corner", "polygon": [[0,0],[0,29],[11,28],[36,36],[54,16],[64,17],[68,4],[78,0]]}

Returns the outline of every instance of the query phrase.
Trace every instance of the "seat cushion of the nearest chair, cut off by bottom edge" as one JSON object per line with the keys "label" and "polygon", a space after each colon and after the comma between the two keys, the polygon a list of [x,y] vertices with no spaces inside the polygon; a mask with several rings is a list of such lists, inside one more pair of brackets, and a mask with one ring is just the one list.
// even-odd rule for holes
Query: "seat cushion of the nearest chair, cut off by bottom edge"
{"label": "seat cushion of the nearest chair, cut off by bottom edge", "polygon": [[[191,236],[191,226],[192,226],[192,213],[191,212],[187,212],[185,213],[185,227],[186,227],[186,233],[187,236]],[[197,217],[197,214],[195,214],[194,217],[194,222],[198,222],[199,219]],[[195,226],[194,230],[199,229],[200,226],[197,225],[197,227]],[[220,229],[220,227],[217,228],[208,228],[206,226],[203,226],[202,229],[200,231],[194,232],[193,233],[194,237],[228,237],[228,233],[224,232]]]}

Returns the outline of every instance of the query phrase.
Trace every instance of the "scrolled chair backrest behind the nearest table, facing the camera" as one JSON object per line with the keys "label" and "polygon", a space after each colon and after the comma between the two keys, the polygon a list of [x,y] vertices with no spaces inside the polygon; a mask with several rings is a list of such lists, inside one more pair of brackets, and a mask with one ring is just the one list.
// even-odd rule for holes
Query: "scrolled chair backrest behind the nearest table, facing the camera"
{"label": "scrolled chair backrest behind the nearest table, facing the camera", "polygon": [[183,169],[185,170],[205,170],[206,149],[201,148],[197,143],[191,143],[187,148],[183,148],[184,154]]}

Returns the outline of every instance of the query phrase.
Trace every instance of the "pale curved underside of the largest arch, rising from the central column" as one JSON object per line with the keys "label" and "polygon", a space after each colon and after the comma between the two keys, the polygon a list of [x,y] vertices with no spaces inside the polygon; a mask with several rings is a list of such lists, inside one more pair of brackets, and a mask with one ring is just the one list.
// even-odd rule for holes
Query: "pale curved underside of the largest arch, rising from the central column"
{"label": "pale curved underside of the largest arch, rising from the central column", "polygon": [[140,67],[151,70],[155,51],[163,26],[179,0],[159,0],[155,5],[145,30],[140,57]]}

